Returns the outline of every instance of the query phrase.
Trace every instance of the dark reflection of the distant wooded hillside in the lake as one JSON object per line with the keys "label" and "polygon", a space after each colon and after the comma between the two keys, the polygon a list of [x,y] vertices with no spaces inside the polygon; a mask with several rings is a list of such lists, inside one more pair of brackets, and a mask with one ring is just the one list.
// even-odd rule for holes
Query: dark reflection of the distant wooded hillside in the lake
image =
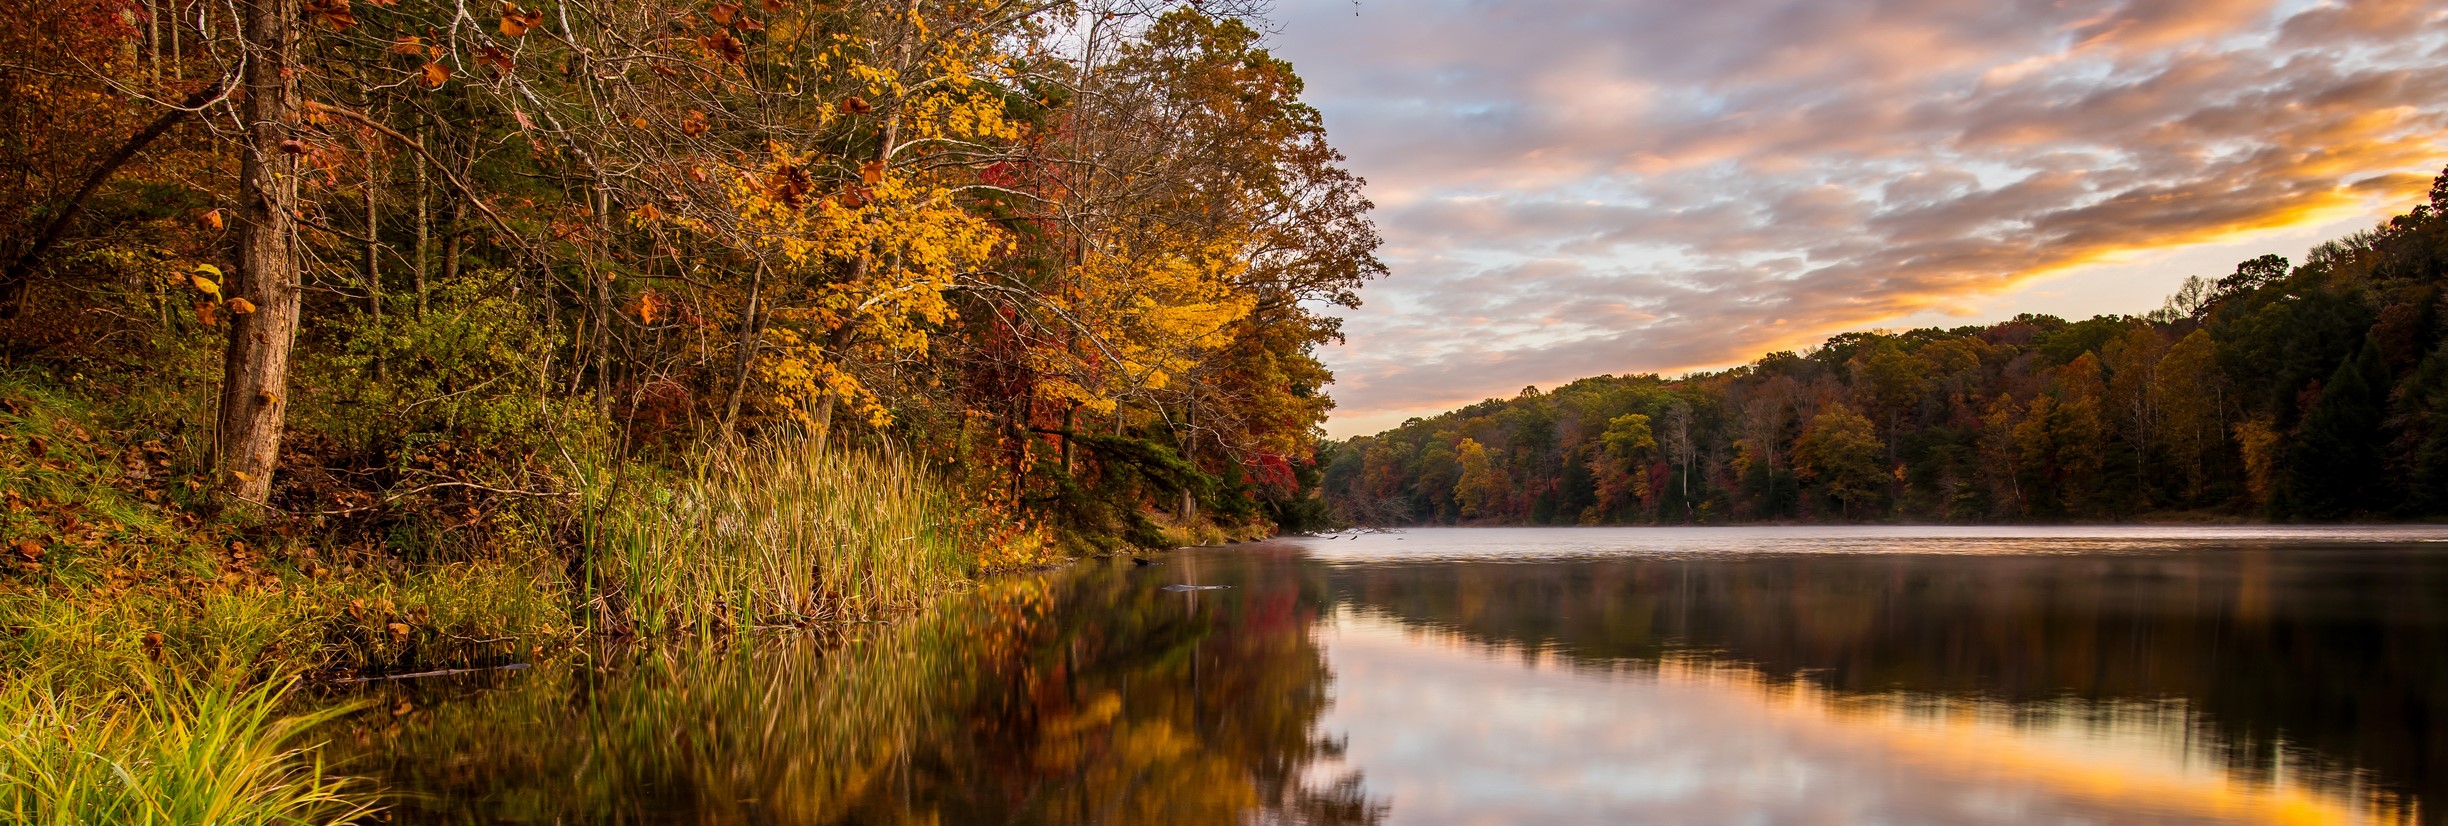
{"label": "dark reflection of the distant wooded hillside in the lake", "polygon": [[1339,603],[1574,662],[1704,652],[1834,691],[1978,696],[2020,713],[2154,703],[2245,779],[2294,777],[2304,755],[2286,750],[2308,750],[2338,782],[2353,767],[2448,799],[2448,556],[2419,549],[1422,564],[1329,578]]}

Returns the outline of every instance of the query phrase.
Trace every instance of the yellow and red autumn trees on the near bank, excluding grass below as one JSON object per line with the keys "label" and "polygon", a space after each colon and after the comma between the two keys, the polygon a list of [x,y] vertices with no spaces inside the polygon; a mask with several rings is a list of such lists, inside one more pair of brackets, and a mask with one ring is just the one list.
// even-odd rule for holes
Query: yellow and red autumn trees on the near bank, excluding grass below
{"label": "yellow and red autumn trees on the near bank, excluding grass below", "polygon": [[1077,534],[1315,520],[1312,350],[1383,265],[1253,7],[0,12],[0,353],[164,400],[223,507],[796,431]]}

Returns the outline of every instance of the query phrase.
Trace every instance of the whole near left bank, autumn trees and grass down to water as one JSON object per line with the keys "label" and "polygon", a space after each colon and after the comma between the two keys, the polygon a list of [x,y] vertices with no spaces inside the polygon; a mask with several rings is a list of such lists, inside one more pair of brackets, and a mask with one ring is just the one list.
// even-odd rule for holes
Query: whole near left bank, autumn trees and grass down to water
{"label": "whole near left bank, autumn trees and grass down to water", "polygon": [[1322,525],[1386,267],[1261,10],[0,0],[0,824],[353,821],[301,684]]}

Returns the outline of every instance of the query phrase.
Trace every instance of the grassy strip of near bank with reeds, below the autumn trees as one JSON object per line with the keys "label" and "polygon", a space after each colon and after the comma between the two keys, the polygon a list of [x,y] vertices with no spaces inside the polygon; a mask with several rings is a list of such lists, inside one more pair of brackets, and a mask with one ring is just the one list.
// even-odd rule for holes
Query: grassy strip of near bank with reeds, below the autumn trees
{"label": "grassy strip of near bank with reeds, below the autumn trees", "polygon": [[318,757],[345,708],[296,716],[301,684],[874,620],[1045,561],[913,461],[810,439],[215,507],[176,407],[108,390],[0,375],[0,821],[350,821],[379,789]]}

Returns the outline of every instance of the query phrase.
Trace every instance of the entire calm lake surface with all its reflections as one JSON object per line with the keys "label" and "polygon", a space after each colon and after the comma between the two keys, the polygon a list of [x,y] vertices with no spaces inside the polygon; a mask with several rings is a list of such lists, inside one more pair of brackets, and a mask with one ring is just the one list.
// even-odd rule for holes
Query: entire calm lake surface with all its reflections
{"label": "entire calm lake surface with all its reflections", "polygon": [[852,640],[382,686],[335,745],[404,824],[2448,821],[2443,527],[1163,559]]}

